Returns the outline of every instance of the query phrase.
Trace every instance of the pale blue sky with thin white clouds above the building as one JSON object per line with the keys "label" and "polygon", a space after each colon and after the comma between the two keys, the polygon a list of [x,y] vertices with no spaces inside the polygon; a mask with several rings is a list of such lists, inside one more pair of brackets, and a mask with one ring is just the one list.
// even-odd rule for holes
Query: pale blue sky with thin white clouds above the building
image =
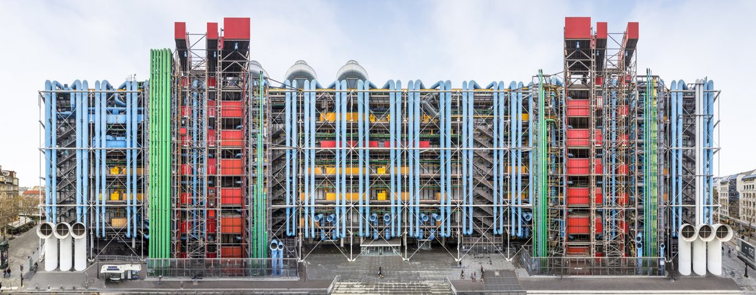
{"label": "pale blue sky with thin white clouds above the building", "polygon": [[708,77],[720,89],[716,175],[756,168],[754,1],[2,1],[0,165],[39,184],[38,92],[45,80],[148,78],[150,48],[174,48],[173,23],[204,32],[251,18],[251,57],[282,80],[305,60],[321,81],[357,60],[371,81],[529,81],[562,71],[564,17],[640,23],[638,72]]}

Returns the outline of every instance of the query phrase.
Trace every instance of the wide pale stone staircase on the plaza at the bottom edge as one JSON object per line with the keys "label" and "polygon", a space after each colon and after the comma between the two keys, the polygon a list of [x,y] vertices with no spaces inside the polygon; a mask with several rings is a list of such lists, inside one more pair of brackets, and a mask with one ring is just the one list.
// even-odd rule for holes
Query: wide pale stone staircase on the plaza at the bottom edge
{"label": "wide pale stone staircase on the plaza at the bottom edge", "polygon": [[453,294],[445,281],[336,281],[337,294]]}

